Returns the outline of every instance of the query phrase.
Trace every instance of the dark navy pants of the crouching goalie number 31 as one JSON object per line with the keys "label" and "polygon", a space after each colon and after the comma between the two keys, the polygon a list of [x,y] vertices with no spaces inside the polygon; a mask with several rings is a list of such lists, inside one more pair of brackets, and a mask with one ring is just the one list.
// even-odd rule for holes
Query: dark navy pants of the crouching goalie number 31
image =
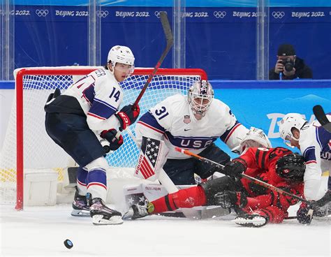
{"label": "dark navy pants of the crouching goalie number 31", "polygon": [[[216,147],[214,143],[209,145],[199,155],[221,164],[230,161],[230,156],[219,149],[219,147]],[[172,182],[177,185],[196,184],[194,174],[199,175],[202,179],[206,179],[217,171],[212,164],[193,158],[168,159],[163,166],[163,170],[165,170]]]}

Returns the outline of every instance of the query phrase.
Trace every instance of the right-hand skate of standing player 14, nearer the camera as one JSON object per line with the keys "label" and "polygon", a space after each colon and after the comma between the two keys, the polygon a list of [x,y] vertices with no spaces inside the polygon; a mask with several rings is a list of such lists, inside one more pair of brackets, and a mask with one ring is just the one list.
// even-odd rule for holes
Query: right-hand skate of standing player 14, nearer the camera
{"label": "right-hand skate of standing player 14, nearer the camera", "polygon": [[89,213],[94,225],[115,225],[123,223],[121,212],[107,207],[101,198],[93,198],[91,200]]}

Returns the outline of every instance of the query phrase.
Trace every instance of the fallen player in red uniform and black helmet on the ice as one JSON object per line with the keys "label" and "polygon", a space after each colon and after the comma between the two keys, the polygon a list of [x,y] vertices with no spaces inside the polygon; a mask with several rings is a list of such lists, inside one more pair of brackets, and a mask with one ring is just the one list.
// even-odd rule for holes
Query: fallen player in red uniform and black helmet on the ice
{"label": "fallen player in red uniform and black helmet on the ice", "polygon": [[250,148],[237,159],[226,164],[221,172],[227,176],[209,180],[198,186],[170,193],[141,207],[133,205],[133,219],[201,205],[221,205],[234,208],[235,222],[242,226],[264,226],[280,223],[288,216],[288,207],[297,199],[277,193],[245,178],[240,174],[263,180],[268,184],[303,197],[304,159],[289,149]]}

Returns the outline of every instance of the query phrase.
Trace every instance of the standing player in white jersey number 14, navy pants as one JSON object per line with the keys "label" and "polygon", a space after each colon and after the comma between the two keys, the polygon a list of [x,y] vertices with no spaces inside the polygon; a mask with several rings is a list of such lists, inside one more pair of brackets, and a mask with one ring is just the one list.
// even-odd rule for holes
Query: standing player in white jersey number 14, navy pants
{"label": "standing player in white jersey number 14, navy pants", "polygon": [[[108,53],[104,68],[89,73],[63,94],[51,94],[45,105],[48,135],[80,165],[73,216],[88,214],[94,224],[122,223],[122,214],[105,205],[108,163],[105,154],[122,143],[117,131],[126,129],[139,115],[139,106],[119,106],[123,82],[134,70],[128,47],[116,45]],[[108,140],[106,150],[100,140]],[[85,212],[85,213],[84,213]]]}

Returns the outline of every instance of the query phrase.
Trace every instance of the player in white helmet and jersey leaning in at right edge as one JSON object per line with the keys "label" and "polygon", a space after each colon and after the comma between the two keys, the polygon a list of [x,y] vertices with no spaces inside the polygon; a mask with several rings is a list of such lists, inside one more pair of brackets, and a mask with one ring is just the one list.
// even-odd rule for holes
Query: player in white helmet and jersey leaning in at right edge
{"label": "player in white helmet and jersey leaning in at right edge", "polygon": [[[327,117],[330,119],[331,115]],[[285,115],[279,123],[279,133],[287,141],[286,145],[300,149],[306,161],[304,196],[307,200],[320,200],[328,191],[328,183],[323,182],[322,174],[331,168],[331,133],[316,120],[308,124],[299,113]],[[299,219],[306,211],[300,208]]]}

